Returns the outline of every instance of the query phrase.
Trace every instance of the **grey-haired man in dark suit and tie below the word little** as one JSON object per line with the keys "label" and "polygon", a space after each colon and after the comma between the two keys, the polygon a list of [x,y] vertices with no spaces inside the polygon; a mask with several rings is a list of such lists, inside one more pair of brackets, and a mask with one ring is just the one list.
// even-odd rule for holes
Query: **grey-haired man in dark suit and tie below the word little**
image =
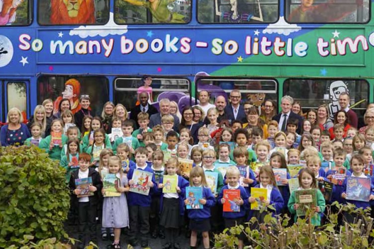
{"label": "grey-haired man in dark suit and tie below the word little", "polygon": [[292,104],[293,99],[291,96],[283,96],[283,98],[281,99],[282,112],[274,116],[273,120],[278,122],[279,130],[285,132],[287,129],[287,120],[289,118],[297,119],[299,121],[299,124],[297,126],[296,132],[300,134],[303,118],[291,111]]}

